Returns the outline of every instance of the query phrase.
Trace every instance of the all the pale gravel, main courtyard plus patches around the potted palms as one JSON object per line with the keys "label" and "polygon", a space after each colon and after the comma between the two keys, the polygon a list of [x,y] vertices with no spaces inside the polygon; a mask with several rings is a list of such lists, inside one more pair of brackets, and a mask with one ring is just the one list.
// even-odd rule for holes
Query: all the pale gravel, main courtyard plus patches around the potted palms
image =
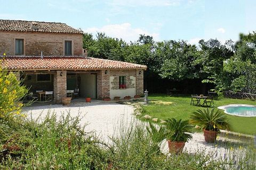
{"label": "all the pale gravel, main courtyard plus patches around the potted palms", "polygon": [[[41,113],[42,117],[44,117],[49,109],[51,112],[57,113],[57,115],[69,110],[71,116],[77,116],[78,112],[81,112],[82,115],[85,115],[81,123],[88,124],[85,130],[94,131],[105,142],[110,141],[109,136],[115,134],[115,129],[118,129],[120,124],[129,125],[132,120],[135,120],[135,116],[132,114],[134,109],[132,106],[116,103],[75,103],[70,106],[35,106],[25,108],[23,112],[32,113],[32,117],[37,118]],[[218,141],[218,144],[221,144],[230,140],[219,138]],[[226,152],[228,148],[223,145],[217,146],[217,143],[206,143],[202,133],[194,133],[193,139],[186,143],[185,149],[188,152],[196,152],[199,149],[205,153],[215,153],[218,150],[218,156],[223,156],[223,152]],[[162,151],[168,152],[166,141],[162,143]]]}

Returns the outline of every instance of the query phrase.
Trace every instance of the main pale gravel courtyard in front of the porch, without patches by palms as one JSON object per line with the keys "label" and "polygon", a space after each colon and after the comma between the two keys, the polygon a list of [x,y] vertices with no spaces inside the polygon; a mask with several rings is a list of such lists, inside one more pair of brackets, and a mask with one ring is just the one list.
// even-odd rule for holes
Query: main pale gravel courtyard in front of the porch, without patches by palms
{"label": "main pale gravel courtyard in front of the porch, without patches by palms", "polygon": [[81,112],[84,117],[81,123],[87,123],[85,130],[94,131],[102,140],[108,141],[108,136],[114,134],[114,128],[125,120],[129,123],[134,118],[132,116],[133,107],[129,105],[121,105],[116,103],[75,103],[70,106],[47,105],[27,107],[23,112],[31,113],[33,118],[37,118],[41,113],[44,117],[49,111],[60,114],[67,113],[70,109],[71,116],[77,116]]}

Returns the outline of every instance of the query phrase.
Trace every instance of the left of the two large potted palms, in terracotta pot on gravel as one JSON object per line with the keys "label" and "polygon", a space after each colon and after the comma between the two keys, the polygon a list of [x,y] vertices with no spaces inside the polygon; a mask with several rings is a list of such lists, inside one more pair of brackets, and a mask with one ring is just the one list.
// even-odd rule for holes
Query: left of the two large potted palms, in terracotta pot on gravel
{"label": "left of the two large potted palms, in terracotta pot on gravel", "polygon": [[175,118],[169,118],[165,125],[169,152],[175,152],[176,154],[182,152],[185,143],[192,138],[192,135],[188,133],[191,129],[188,120],[182,121],[180,119],[177,121]]}

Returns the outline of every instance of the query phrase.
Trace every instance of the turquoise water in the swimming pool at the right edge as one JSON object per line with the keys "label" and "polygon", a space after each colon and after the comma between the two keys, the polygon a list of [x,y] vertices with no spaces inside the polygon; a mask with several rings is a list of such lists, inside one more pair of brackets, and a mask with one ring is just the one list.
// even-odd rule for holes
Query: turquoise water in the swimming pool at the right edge
{"label": "turquoise water in the swimming pool at the right edge", "polygon": [[229,106],[226,113],[237,116],[256,116],[256,107],[253,106]]}

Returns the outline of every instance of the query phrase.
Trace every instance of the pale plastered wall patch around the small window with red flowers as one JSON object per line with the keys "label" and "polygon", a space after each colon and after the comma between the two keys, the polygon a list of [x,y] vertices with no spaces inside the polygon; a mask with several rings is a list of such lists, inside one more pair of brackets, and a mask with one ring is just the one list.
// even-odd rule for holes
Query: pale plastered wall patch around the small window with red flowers
{"label": "pale plastered wall patch around the small window with red flowers", "polygon": [[[136,95],[136,87],[134,88],[129,88],[129,89],[115,89],[112,90],[112,84],[114,77],[110,76],[110,98],[113,99],[116,96],[119,96],[121,98],[124,98],[125,96],[131,96],[133,97]],[[136,78],[134,76],[130,76],[130,79],[132,79],[132,83],[136,84]]]}

